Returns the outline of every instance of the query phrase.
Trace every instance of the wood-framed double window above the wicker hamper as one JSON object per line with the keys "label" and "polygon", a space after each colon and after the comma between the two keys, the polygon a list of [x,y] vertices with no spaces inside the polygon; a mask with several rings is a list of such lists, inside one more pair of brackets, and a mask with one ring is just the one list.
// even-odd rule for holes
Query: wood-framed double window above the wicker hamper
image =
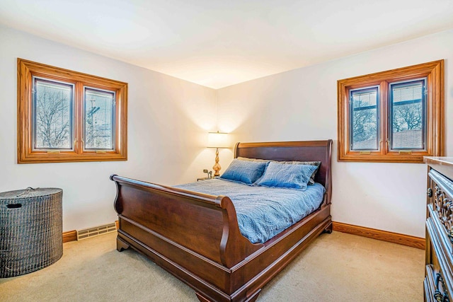
{"label": "wood-framed double window above the wicker hamper", "polygon": [[127,83],[18,59],[18,163],[127,160]]}

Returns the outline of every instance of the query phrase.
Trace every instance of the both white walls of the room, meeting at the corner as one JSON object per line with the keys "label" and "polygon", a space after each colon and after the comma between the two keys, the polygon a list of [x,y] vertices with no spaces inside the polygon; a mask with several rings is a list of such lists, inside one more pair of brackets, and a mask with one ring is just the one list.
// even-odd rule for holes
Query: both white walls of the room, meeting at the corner
{"label": "both white walls of the room, meeting at the corner", "polygon": [[[338,163],[336,81],[445,59],[447,155],[453,156],[453,30],[217,91],[219,130],[235,141],[334,139],[334,221],[424,237],[426,165]],[[18,165],[16,59],[129,83],[128,161]],[[115,221],[112,173],[166,185],[211,168],[216,91],[0,26],[0,192],[61,187],[64,231]],[[233,153],[220,151],[222,170]],[[221,171],[222,172],[222,171]]]}

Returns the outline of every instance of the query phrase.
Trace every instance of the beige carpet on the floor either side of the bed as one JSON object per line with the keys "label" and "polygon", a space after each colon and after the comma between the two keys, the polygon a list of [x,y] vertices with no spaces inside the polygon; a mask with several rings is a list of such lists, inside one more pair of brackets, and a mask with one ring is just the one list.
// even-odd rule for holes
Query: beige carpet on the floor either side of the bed
{"label": "beige carpet on the floor either side of the bed", "polygon": [[[198,301],[115,234],[64,243],[54,265],[0,279],[0,301]],[[317,238],[257,301],[423,301],[424,251],[345,233]]]}

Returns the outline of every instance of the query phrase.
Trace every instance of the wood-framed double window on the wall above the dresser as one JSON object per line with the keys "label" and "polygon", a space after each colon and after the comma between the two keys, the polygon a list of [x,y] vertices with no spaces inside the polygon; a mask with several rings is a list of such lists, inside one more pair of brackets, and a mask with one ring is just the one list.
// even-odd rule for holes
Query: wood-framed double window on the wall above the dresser
{"label": "wood-framed double window on the wall above the dresser", "polygon": [[338,161],[443,154],[443,60],[338,81]]}

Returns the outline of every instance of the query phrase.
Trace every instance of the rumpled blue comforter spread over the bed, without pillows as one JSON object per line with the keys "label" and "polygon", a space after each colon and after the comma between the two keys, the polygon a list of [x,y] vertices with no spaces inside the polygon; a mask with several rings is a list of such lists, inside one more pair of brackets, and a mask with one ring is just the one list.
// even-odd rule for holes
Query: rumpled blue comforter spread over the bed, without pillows
{"label": "rumpled blue comforter spread over the bed, without pillows", "polygon": [[251,243],[265,243],[311,214],[319,208],[325,191],[319,183],[302,191],[254,187],[218,178],[175,187],[229,197],[236,208],[239,229]]}

